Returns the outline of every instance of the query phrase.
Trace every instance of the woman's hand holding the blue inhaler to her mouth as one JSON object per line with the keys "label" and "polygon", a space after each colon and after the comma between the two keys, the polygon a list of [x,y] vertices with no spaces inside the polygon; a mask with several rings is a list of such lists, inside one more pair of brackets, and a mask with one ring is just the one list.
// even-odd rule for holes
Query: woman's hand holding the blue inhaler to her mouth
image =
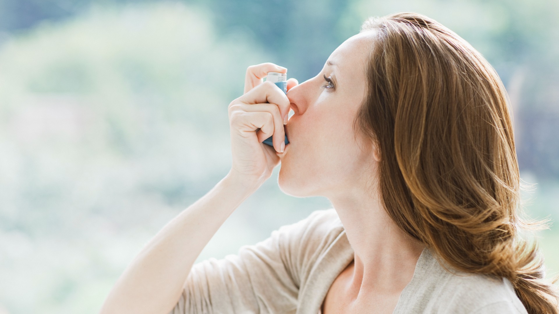
{"label": "woman's hand holding the blue inhaler to her mouth", "polygon": [[[243,96],[229,104],[233,154],[230,174],[255,184],[271,177],[273,168],[280,163],[276,151],[285,141],[283,118],[290,111],[286,94],[276,84],[262,82],[268,72],[287,73],[287,69],[273,63],[249,66]],[[296,79],[288,79],[287,89],[296,84]],[[257,129],[260,130],[256,132]],[[273,148],[262,143],[270,136]]]}

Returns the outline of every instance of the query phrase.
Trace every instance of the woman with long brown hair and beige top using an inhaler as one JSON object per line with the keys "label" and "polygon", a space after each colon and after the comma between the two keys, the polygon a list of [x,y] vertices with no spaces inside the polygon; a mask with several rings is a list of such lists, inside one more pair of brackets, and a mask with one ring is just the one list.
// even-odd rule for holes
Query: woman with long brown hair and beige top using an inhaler
{"label": "woman with long brown hair and beige top using an inhaler", "polygon": [[[517,236],[505,88],[470,44],[394,13],[287,95],[267,72],[286,69],[250,66],[229,105],[229,174],[146,245],[102,313],[558,313],[541,256]],[[280,161],[283,192],[333,208],[193,265]]]}

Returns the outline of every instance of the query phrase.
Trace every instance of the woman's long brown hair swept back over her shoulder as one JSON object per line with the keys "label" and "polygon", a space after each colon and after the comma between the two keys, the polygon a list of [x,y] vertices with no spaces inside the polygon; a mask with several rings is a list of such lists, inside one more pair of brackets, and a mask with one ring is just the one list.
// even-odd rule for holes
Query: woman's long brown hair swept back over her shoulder
{"label": "woman's long brown hair swept back over her shoulder", "polygon": [[368,93],[354,121],[381,156],[379,187],[392,220],[438,258],[504,277],[528,313],[557,314],[537,245],[518,230],[520,175],[509,98],[467,41],[427,16],[369,17]]}

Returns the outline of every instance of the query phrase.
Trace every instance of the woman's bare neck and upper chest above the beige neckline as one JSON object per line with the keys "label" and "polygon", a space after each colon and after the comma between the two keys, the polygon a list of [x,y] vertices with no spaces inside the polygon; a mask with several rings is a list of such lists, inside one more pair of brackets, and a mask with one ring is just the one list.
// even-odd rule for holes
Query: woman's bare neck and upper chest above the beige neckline
{"label": "woman's bare neck and upper chest above the beige neckline", "polygon": [[[347,191],[345,191],[347,192]],[[379,198],[362,193],[331,199],[354,250],[348,293],[401,292],[413,277],[425,246],[397,227]]]}

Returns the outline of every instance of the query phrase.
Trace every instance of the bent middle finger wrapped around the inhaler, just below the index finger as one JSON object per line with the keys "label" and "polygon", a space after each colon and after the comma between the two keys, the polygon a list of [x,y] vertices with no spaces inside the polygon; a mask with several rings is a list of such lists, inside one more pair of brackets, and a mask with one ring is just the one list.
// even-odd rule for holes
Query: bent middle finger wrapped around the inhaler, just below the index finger
{"label": "bent middle finger wrapped around the inhaler, just below the index finger", "polygon": [[283,125],[283,117],[288,115],[291,102],[286,94],[272,82],[263,82],[257,87],[251,89],[243,96],[235,99],[235,103],[257,104],[271,103],[277,105],[280,110],[281,125]]}

